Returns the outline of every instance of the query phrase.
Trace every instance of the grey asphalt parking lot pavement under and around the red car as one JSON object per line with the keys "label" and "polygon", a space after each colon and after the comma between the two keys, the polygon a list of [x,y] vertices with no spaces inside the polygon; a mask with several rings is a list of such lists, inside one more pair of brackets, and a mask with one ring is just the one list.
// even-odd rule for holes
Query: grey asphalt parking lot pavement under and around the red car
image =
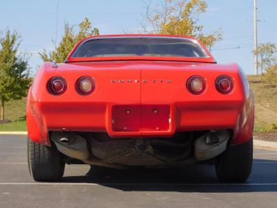
{"label": "grey asphalt parking lot pavement under and around the red car", "polygon": [[26,136],[0,135],[0,207],[277,207],[277,151],[254,151],[245,184],[221,184],[213,166],[118,171],[68,165],[62,182],[37,183]]}

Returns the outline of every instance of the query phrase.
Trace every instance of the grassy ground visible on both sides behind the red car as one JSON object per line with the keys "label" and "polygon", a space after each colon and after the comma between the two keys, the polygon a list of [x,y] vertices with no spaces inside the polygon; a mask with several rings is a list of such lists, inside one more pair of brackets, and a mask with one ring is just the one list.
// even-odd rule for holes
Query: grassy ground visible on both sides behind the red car
{"label": "grassy ground visible on both sides behind the red car", "polygon": [[[260,81],[260,76],[248,76],[255,99],[255,128],[260,132],[270,123],[277,122],[277,86],[268,86]],[[26,98],[6,103],[6,120],[0,124],[0,131],[26,130]]]}

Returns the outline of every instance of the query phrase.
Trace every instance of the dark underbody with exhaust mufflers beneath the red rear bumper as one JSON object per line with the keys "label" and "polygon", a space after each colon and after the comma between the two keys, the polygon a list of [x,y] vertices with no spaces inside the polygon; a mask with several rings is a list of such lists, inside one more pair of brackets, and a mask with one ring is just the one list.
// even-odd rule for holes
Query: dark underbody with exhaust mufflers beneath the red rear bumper
{"label": "dark underbody with exhaust mufflers beneath the red rear bumper", "polygon": [[87,164],[114,168],[168,168],[207,162],[220,155],[233,135],[231,130],[178,132],[174,137],[114,139],[107,133],[50,132],[57,150]]}

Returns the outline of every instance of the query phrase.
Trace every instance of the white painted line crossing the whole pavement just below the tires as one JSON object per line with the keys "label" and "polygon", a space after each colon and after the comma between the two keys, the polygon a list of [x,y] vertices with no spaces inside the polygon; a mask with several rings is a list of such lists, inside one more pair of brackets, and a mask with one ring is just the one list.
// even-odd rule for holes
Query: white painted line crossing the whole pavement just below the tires
{"label": "white painted line crossing the whole pavement just below the tires", "polygon": [[44,182],[44,183],[39,183],[39,182],[0,182],[0,185],[39,185],[39,186],[188,186],[188,187],[202,187],[202,186],[240,186],[240,187],[251,187],[251,186],[277,186],[277,183],[245,183],[245,184],[211,184],[211,183],[201,183],[201,184],[180,184],[180,183],[70,183],[70,182]]}

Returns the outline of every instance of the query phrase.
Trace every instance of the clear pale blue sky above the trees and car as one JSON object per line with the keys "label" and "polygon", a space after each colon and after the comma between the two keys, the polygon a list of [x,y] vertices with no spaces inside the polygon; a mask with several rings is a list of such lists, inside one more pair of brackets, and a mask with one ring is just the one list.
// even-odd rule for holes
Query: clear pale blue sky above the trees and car
{"label": "clear pale blue sky above the trees and car", "polygon": [[[22,38],[20,50],[31,54],[30,67],[35,73],[42,64],[39,51],[55,46],[57,0],[0,0],[0,33],[16,30]],[[160,0],[152,0],[153,5]],[[222,41],[212,47],[218,63],[237,62],[247,74],[254,73],[253,0],[206,0],[207,11],[199,16],[205,33],[222,30]],[[258,0],[258,42],[277,44],[276,0]],[[57,42],[64,23],[78,26],[89,18],[101,35],[138,33],[143,21],[141,0],[59,0]]]}

